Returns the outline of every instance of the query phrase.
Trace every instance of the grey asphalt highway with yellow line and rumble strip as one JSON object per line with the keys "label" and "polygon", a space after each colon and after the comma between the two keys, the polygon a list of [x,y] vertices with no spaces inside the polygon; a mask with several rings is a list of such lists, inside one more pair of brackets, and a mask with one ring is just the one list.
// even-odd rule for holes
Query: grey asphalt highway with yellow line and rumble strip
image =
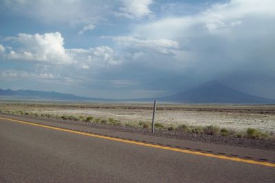
{"label": "grey asphalt highway with yellow line and rumble strip", "polygon": [[274,151],[3,114],[0,157],[0,182],[275,182]]}

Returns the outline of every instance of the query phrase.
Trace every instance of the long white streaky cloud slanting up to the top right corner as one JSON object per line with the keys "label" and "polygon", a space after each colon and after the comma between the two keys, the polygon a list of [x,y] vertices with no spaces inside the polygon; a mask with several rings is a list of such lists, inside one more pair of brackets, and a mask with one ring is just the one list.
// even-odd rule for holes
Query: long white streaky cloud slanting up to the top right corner
{"label": "long white streaky cloud slanting up to the top right corner", "polygon": [[[217,33],[243,24],[248,18],[273,18],[273,0],[232,0],[229,3],[216,3],[208,10],[188,16],[169,16],[135,26],[134,36],[145,38],[188,38],[196,34]],[[167,29],[168,28],[168,29]]]}

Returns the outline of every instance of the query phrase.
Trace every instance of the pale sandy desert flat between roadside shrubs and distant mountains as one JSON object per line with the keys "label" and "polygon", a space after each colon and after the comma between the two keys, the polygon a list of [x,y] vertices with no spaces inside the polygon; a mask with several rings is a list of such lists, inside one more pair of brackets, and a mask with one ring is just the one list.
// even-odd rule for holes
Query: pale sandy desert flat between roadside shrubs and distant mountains
{"label": "pale sandy desert flat between roadside shrubs and distant mountains", "polygon": [[[26,110],[51,114],[91,115],[138,123],[152,119],[152,105],[142,103],[15,103],[0,101],[1,110]],[[155,121],[171,125],[218,125],[242,131],[248,127],[275,133],[275,105],[171,105],[157,107]]]}

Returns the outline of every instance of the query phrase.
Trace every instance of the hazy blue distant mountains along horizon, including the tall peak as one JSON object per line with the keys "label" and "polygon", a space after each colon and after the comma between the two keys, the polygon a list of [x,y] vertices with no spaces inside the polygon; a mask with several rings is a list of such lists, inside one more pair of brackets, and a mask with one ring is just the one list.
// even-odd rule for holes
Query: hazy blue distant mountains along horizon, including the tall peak
{"label": "hazy blue distant mountains along horizon, including the tall peak", "polygon": [[150,99],[98,99],[90,97],[79,97],[72,94],[57,92],[46,92],[36,90],[2,90],[1,98],[12,99],[53,99],[53,100],[71,100],[71,101],[157,101],[169,103],[274,103],[275,99],[266,99],[234,90],[217,81],[206,82],[195,88],[190,88],[184,92],[170,95],[167,97],[156,97]]}

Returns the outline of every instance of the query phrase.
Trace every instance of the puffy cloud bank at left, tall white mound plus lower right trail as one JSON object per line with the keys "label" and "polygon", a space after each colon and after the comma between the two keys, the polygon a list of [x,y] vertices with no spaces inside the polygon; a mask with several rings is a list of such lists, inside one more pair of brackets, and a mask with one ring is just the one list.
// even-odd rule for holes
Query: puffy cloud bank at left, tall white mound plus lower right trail
{"label": "puffy cloud bank at left, tall white mound plus lower right trail", "polygon": [[8,37],[6,40],[19,43],[17,49],[12,49],[6,54],[5,58],[9,60],[27,60],[45,64],[78,64],[83,69],[109,67],[122,63],[122,57],[117,56],[111,47],[66,49],[64,39],[59,32],[18,34],[17,37]]}

